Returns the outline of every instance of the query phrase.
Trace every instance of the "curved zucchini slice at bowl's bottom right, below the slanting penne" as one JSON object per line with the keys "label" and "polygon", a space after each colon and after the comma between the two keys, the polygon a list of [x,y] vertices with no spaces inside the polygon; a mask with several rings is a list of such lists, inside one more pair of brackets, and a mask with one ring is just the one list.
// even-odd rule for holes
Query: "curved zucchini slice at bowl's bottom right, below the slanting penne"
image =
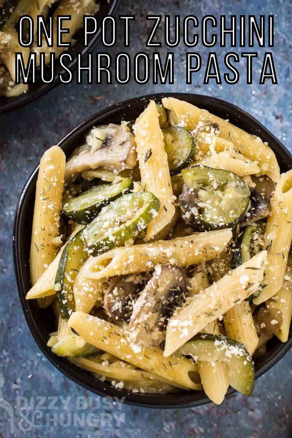
{"label": "curved zucchini slice at bowl's bottom right, below the slanting penne", "polygon": [[245,346],[222,335],[198,333],[176,353],[202,362],[220,361],[228,366],[229,385],[249,397],[253,390],[253,360]]}

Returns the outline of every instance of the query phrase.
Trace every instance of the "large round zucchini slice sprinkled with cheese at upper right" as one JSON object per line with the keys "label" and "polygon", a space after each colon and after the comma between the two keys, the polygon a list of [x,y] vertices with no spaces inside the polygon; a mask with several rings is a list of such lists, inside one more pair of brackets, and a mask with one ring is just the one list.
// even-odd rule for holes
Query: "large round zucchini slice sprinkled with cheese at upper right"
{"label": "large round zucchini slice sprinkled with cheese at upper right", "polygon": [[200,230],[235,227],[250,203],[250,189],[235,173],[207,166],[182,170],[179,196],[183,220]]}

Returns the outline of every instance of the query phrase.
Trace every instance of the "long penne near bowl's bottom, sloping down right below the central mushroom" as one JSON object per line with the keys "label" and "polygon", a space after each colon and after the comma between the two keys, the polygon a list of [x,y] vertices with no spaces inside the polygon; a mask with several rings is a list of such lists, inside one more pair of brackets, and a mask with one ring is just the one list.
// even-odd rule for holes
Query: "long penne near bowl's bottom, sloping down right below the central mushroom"
{"label": "long penne near bowl's bottom, sloping down right below the central mushroom", "polygon": [[86,342],[126,360],[136,367],[149,371],[169,381],[174,386],[202,389],[202,386],[199,383],[194,383],[188,375],[189,372],[197,371],[197,367],[193,365],[191,360],[181,356],[165,360],[159,348],[142,349],[136,344],[130,343],[127,339],[127,332],[117,325],[82,312],[72,313],[68,325]]}

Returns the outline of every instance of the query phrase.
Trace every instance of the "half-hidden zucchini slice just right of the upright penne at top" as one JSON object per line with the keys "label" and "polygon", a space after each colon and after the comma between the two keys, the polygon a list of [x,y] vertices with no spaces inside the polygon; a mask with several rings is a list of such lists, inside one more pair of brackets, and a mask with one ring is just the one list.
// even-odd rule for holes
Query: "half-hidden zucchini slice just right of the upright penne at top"
{"label": "half-hidden zucchini slice just right of the upright penne at top", "polygon": [[174,175],[191,162],[195,152],[193,136],[180,126],[162,128],[162,132],[170,174]]}

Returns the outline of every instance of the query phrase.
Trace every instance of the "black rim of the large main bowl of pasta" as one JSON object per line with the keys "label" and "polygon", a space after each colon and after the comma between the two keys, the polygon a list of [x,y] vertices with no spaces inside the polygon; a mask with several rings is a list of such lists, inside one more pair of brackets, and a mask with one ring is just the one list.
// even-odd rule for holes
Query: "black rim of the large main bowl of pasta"
{"label": "black rim of the large main bowl of pasta", "polygon": [[[223,99],[211,97],[208,95],[198,95],[198,94],[193,94],[193,93],[171,93],[171,92],[156,93],[156,94],[142,95],[139,97],[135,97],[135,98],[131,98],[131,99],[127,99],[127,100],[118,102],[114,105],[111,105],[109,107],[106,107],[106,108],[100,110],[97,113],[94,113],[93,115],[91,115],[87,119],[83,120],[79,125],[77,125],[77,127],[75,127],[72,131],[70,131],[68,134],[66,134],[57,143],[57,145],[59,145],[62,148],[63,144],[66,143],[68,138],[72,137],[74,134],[78,134],[78,132],[82,131],[82,129],[84,127],[92,126],[92,124],[94,124],[94,122],[97,118],[101,118],[101,117],[104,118],[107,115],[109,115],[109,113],[112,113],[115,110],[119,110],[122,107],[124,107],[126,109],[128,106],[131,105],[131,103],[137,102],[138,100],[141,100],[141,102],[144,102],[145,104],[146,104],[146,102],[148,102],[151,99],[155,99],[156,101],[161,101],[161,99],[163,97],[175,97],[177,99],[182,99],[182,100],[187,101],[188,96],[194,97],[196,99],[201,99],[202,107],[204,107],[204,102],[209,101],[209,102],[212,102],[214,104],[216,103],[220,106],[223,106],[226,110],[232,109],[232,110],[238,111],[240,113],[241,117],[245,117],[246,119],[253,122],[253,124],[257,125],[257,128],[259,130],[264,131],[265,134],[267,134],[275,142],[275,145],[277,148],[279,148],[280,150],[285,152],[285,154],[289,157],[290,162],[291,162],[291,166],[292,166],[292,154],[289,152],[289,150],[281,143],[281,141],[279,141],[266,127],[264,127],[264,125],[262,125],[253,116],[246,113],[246,111],[239,108],[238,106],[236,106],[230,102],[226,102]],[[62,369],[62,363],[58,364],[57,362],[60,362],[59,359],[63,360],[63,358],[59,358],[56,355],[53,355],[53,353],[52,353],[52,355],[50,355],[48,349],[46,349],[42,346],[41,339],[39,339],[39,337],[36,335],[36,333],[38,331],[36,330],[33,315],[27,306],[27,301],[25,300],[25,293],[26,292],[22,287],[22,267],[21,267],[21,261],[18,257],[19,247],[20,247],[20,239],[19,239],[18,229],[19,229],[19,226],[21,223],[21,211],[22,211],[22,208],[23,208],[24,203],[25,203],[25,197],[26,197],[26,194],[28,192],[28,188],[32,184],[33,180],[35,179],[37,172],[38,172],[38,169],[39,169],[39,165],[36,166],[35,169],[32,171],[30,177],[28,178],[28,180],[25,184],[25,187],[21,191],[21,195],[20,195],[20,198],[18,200],[18,204],[17,204],[16,209],[15,209],[14,230],[13,230],[13,261],[14,261],[15,276],[16,276],[17,285],[18,285],[18,295],[19,295],[19,298],[21,301],[22,310],[23,310],[23,313],[25,315],[25,319],[26,319],[28,328],[29,328],[30,332],[32,333],[32,336],[33,336],[36,344],[39,346],[40,350],[42,351],[42,353],[46,356],[47,359],[49,359],[51,364],[53,364],[59,371],[61,371],[62,374],[64,374],[67,378],[74,381],[78,385],[87,389],[89,392],[93,392],[99,396],[111,396],[111,397],[125,396],[124,403],[126,403],[126,404],[130,404],[130,405],[134,405],[134,406],[150,407],[150,408],[159,408],[159,409],[177,409],[177,408],[201,406],[204,404],[211,403],[210,399],[206,395],[204,395],[204,392],[201,392],[202,397],[201,397],[201,399],[198,399],[198,400],[192,400],[189,393],[177,394],[177,395],[173,394],[173,396],[177,396],[177,403],[168,402],[167,401],[168,395],[166,394],[163,402],[160,404],[157,402],[159,401],[159,399],[162,401],[161,398],[163,396],[158,395],[158,394],[155,394],[155,395],[133,394],[132,392],[114,389],[112,386],[108,386],[107,388],[100,389],[100,390],[93,389],[90,385],[86,384],[83,381],[80,381],[80,379],[74,377],[72,374],[70,374],[65,369]],[[276,348],[275,349],[276,351],[274,351],[274,353],[271,354],[271,357],[269,358],[268,362],[255,372],[255,379],[259,378],[264,373],[266,373],[271,367],[273,367],[288,352],[288,350],[290,350],[291,347],[292,347],[292,336],[288,339],[288,341],[286,343],[282,343],[278,348]],[[65,366],[65,364],[63,364],[63,366]],[[229,387],[229,389],[226,393],[226,396],[230,396],[235,392],[236,392],[235,389]],[[188,397],[186,397],[186,396],[188,396]],[[185,399],[187,399],[187,400],[185,400]]]}

